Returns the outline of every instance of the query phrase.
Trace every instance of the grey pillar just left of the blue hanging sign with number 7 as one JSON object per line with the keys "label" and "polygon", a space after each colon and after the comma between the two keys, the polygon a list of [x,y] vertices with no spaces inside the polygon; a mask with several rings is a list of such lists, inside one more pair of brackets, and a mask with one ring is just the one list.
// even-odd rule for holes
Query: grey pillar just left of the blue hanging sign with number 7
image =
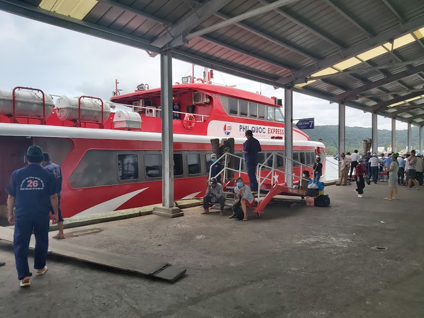
{"label": "grey pillar just left of the blue hanging sign with number 7", "polygon": [[[284,151],[286,160],[285,171],[293,174],[293,89],[284,89]],[[293,188],[293,177],[286,175],[287,187]]]}

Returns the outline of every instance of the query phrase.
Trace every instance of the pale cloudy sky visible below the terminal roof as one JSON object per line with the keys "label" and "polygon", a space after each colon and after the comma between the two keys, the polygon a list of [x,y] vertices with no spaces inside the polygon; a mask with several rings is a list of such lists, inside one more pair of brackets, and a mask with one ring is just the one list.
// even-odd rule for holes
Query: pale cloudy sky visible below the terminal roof
{"label": "pale cloudy sky visible below the terminal roof", "polygon": [[[133,47],[98,39],[0,11],[0,88],[40,88],[48,94],[91,95],[109,100],[115,89],[131,92],[140,84],[160,86],[160,59]],[[191,73],[191,64],[173,61],[173,82]],[[202,68],[195,68],[200,77]],[[215,72],[215,82],[239,89],[283,97],[283,90]],[[315,118],[315,125],[337,125],[337,104],[294,93],[294,118]],[[346,109],[348,126],[370,127],[371,114]],[[379,116],[379,129],[391,129],[391,120]],[[397,129],[407,124],[396,122]]]}

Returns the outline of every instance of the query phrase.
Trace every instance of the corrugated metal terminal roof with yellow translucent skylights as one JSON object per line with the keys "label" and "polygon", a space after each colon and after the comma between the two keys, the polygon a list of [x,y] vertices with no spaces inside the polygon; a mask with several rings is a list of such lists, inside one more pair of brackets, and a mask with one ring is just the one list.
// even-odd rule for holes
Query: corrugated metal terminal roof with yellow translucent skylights
{"label": "corrugated metal terminal roof with yellow translucent skylights", "polygon": [[422,0],[0,0],[0,10],[424,125]]}

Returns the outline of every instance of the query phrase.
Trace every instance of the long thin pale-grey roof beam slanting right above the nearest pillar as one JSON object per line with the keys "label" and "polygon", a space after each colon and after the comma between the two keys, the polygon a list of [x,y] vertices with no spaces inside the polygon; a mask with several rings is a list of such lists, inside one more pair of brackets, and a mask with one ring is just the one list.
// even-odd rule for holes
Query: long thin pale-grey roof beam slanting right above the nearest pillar
{"label": "long thin pale-grey roof beam slanting right above the nearest pillar", "polygon": [[[263,7],[257,8],[257,9],[253,9],[251,11],[248,11],[248,12],[242,13],[240,15],[237,15],[235,17],[229,18],[228,20],[225,20],[225,21],[222,21],[222,22],[219,22],[219,23],[215,23],[213,25],[207,26],[204,29],[189,33],[186,36],[186,38],[188,40],[190,40],[190,39],[193,39],[195,37],[201,36],[203,34],[210,33],[210,32],[213,32],[215,30],[224,28],[224,26],[234,24],[235,22],[243,21],[243,20],[249,19],[251,17],[270,12],[274,9],[279,8],[279,7],[288,5],[288,4],[293,3],[293,2],[298,2],[298,1],[299,0],[277,0],[273,3],[271,3],[271,4],[265,5]],[[228,4],[228,1],[225,1],[225,2]]]}

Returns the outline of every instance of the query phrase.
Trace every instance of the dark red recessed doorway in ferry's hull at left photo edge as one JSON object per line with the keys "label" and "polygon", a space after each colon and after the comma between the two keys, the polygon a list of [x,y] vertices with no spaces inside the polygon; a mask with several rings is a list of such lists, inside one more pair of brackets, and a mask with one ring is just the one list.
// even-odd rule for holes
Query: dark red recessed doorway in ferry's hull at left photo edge
{"label": "dark red recessed doorway in ferry's hull at left photo edge", "polygon": [[0,217],[7,216],[6,187],[10,176],[16,169],[26,166],[26,150],[32,144],[32,138],[0,136]]}

